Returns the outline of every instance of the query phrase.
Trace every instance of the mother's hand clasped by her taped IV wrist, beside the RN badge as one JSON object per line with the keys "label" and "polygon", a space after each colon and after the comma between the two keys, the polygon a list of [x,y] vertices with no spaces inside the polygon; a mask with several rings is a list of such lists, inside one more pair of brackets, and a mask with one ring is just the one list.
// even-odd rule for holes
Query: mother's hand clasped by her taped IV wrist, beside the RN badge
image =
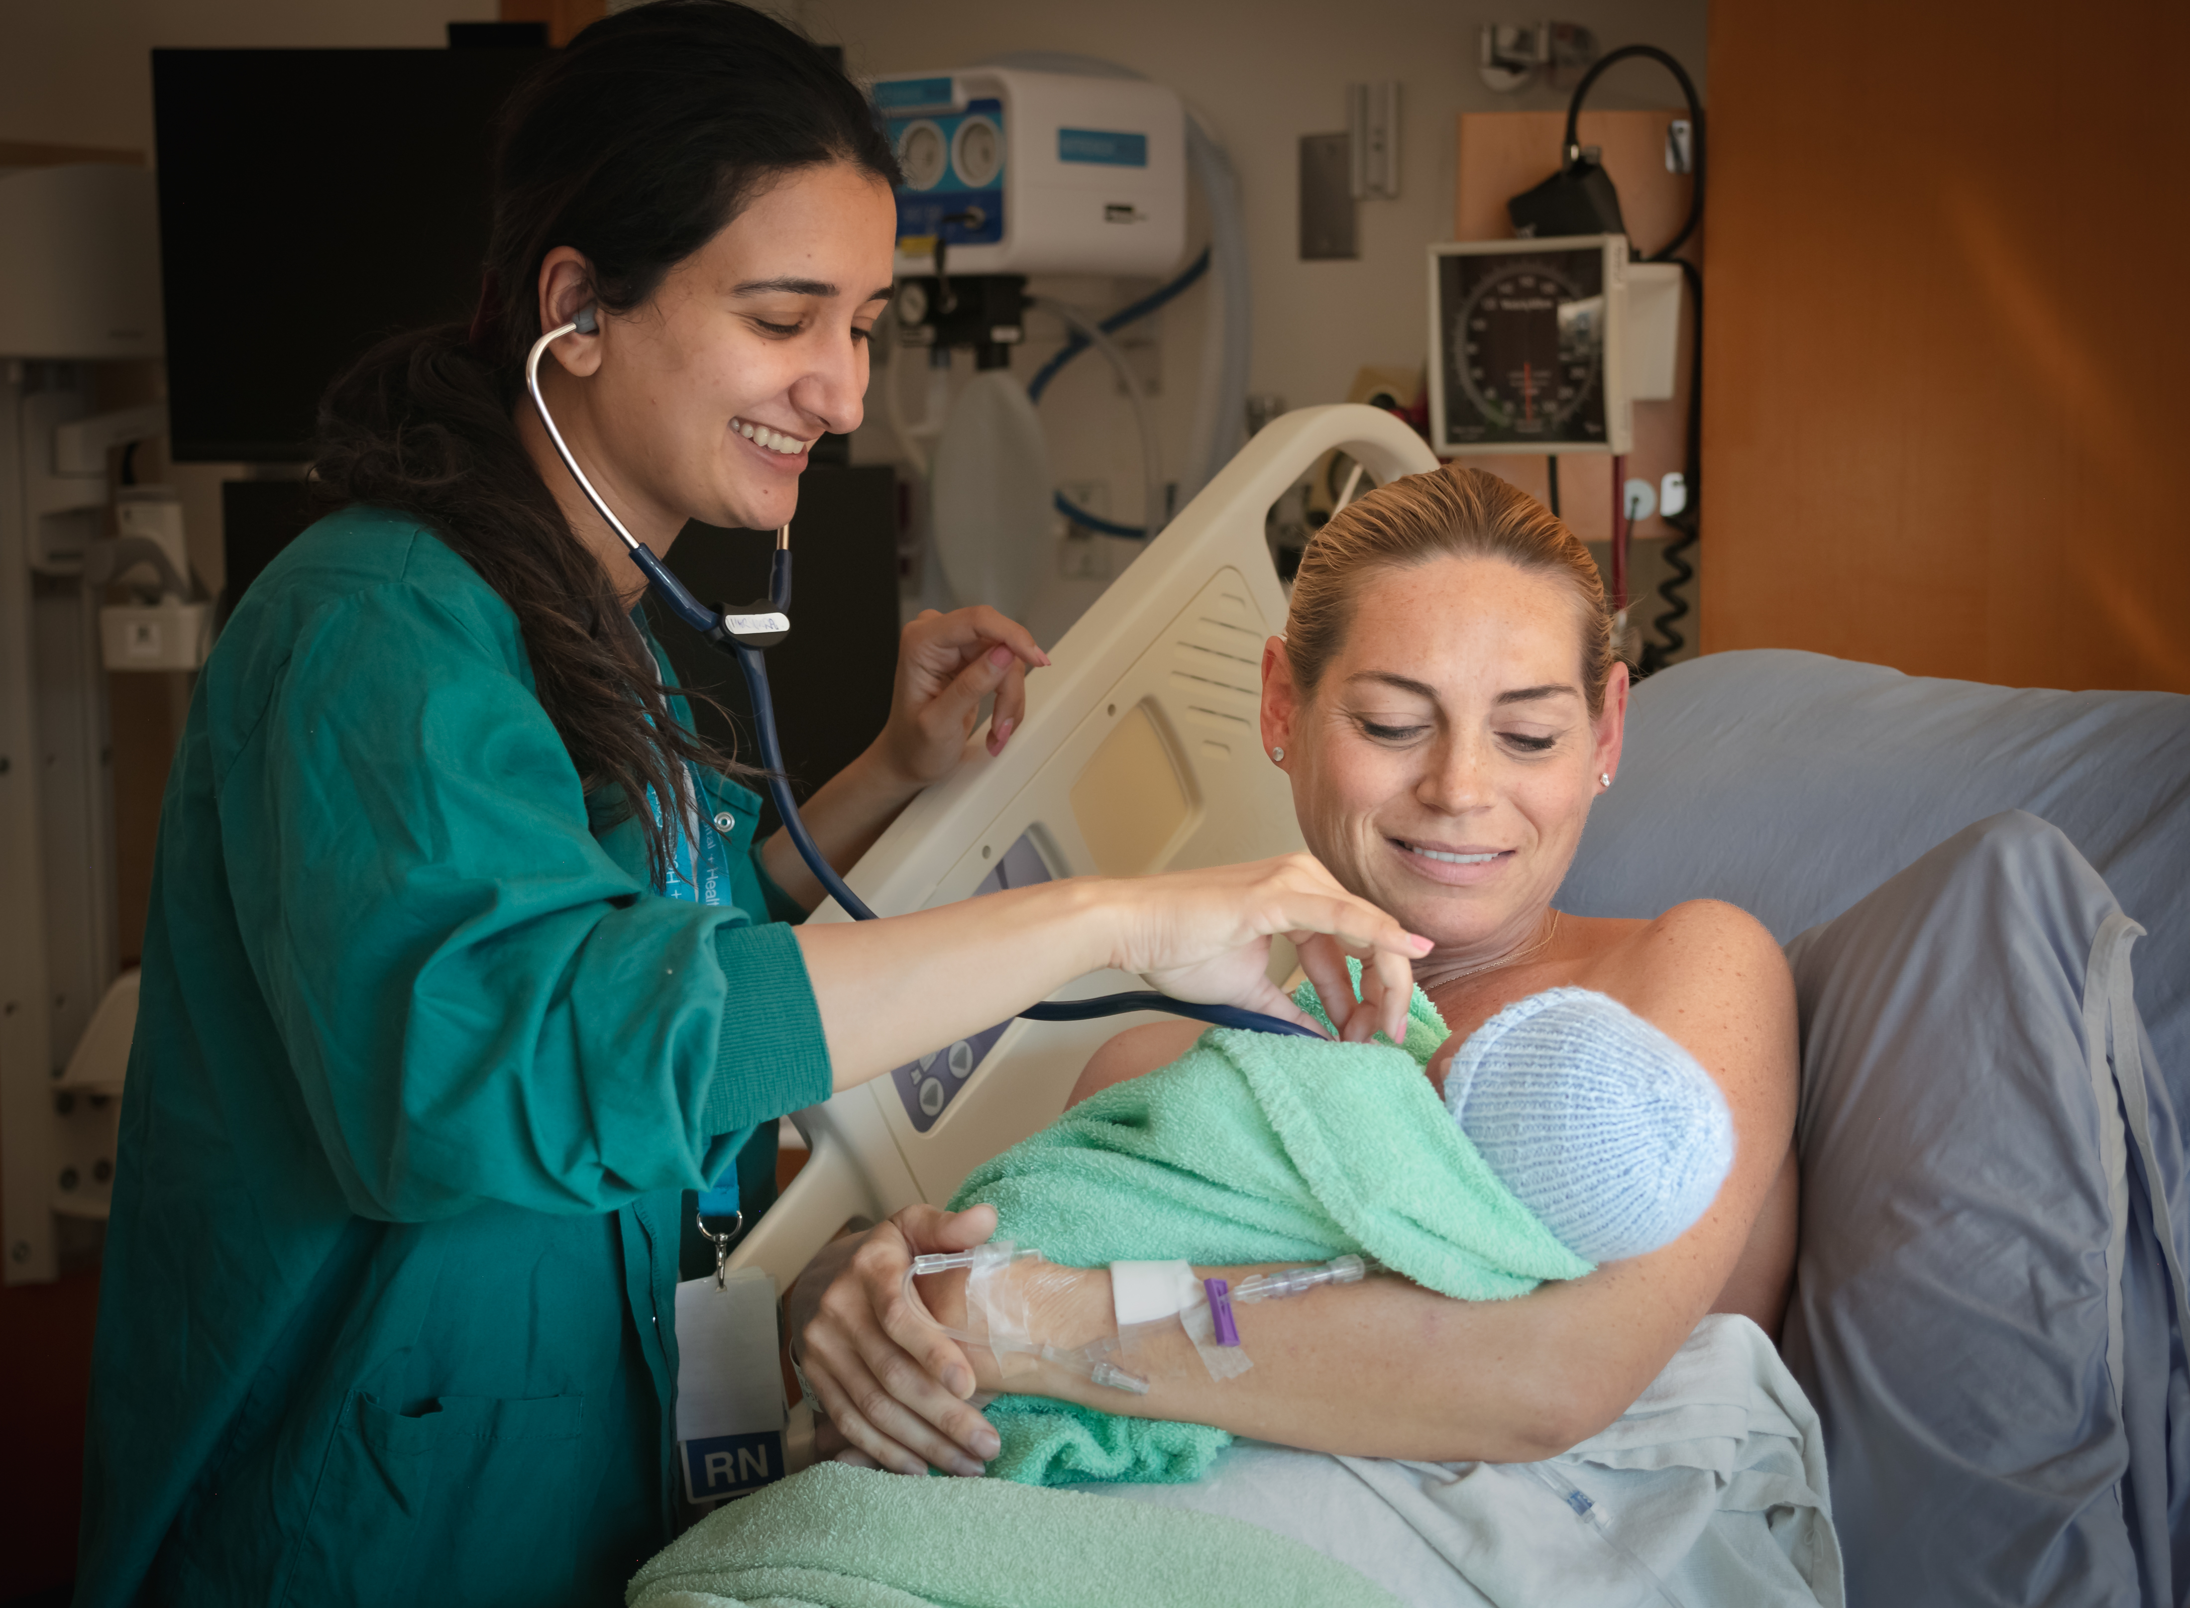
{"label": "mother's hand clasped by her taped IV wrist, beside the RN badge", "polygon": [[[907,1207],[826,1247],[784,1299],[793,1352],[821,1411],[845,1444],[880,1468],[979,1474],[981,1459],[996,1455],[996,1431],[968,1402],[972,1363],[904,1299],[915,1255],[968,1251],[994,1231],[994,1207]],[[819,1444],[834,1448],[832,1437]]]}

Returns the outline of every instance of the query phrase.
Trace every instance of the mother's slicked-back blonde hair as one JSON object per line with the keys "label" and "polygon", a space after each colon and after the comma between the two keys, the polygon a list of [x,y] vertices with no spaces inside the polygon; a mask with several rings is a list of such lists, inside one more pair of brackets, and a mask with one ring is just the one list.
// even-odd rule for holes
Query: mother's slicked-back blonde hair
{"label": "mother's slicked-back blonde hair", "polygon": [[1312,699],[1345,646],[1362,581],[1432,559],[1505,559],[1553,576],[1575,594],[1581,694],[1603,714],[1612,681],[1612,611],[1597,561],[1559,515],[1520,486],[1485,471],[1428,469],[1356,497],[1332,515],[1301,554],[1286,611],[1286,662]]}

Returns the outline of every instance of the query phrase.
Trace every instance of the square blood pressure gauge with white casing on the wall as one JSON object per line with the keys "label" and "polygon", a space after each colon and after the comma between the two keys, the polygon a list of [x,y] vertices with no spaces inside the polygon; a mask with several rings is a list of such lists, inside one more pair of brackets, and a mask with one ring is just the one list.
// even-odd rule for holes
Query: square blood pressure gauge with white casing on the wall
{"label": "square blood pressure gauge with white casing on the wall", "polygon": [[1627,239],[1430,248],[1430,445],[1627,451]]}

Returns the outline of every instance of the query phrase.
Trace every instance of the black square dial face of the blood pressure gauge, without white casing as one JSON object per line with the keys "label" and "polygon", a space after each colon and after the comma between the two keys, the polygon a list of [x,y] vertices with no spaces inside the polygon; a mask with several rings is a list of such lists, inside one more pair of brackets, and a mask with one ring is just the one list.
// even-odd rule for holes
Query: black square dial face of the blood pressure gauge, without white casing
{"label": "black square dial face of the blood pressure gauge, without white casing", "polygon": [[1605,447],[1605,250],[1439,259],[1443,449]]}

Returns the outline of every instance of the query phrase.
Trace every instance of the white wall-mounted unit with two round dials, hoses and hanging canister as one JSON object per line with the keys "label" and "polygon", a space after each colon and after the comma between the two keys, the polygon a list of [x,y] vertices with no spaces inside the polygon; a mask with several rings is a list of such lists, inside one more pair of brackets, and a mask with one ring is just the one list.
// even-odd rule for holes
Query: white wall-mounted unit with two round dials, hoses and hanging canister
{"label": "white wall-mounted unit with two round dials, hoses and hanging canister", "polygon": [[[896,326],[929,353],[922,416],[904,381],[878,375],[883,414],[904,460],[929,482],[942,594],[935,602],[1034,605],[1051,565],[1056,515],[1084,530],[1148,537],[1237,447],[1246,397],[1248,272],[1237,182],[1222,147],[1176,92],[1106,61],[1025,55],[979,68],[894,74],[874,85],[898,147]],[[1025,340],[1029,274],[1156,278],[1185,254],[1187,173],[1209,208],[1211,245],[1150,296],[1106,318],[1051,302],[1073,337],[1021,388],[1007,375]],[[1187,287],[1215,296],[1211,375],[1200,388],[1185,462],[1165,473],[1141,386],[1106,342]],[[950,397],[950,351],[972,348],[972,386]],[[1110,519],[1056,486],[1040,401],[1056,372],[1097,351],[1134,405],[1143,495]],[[933,462],[931,449],[933,445]],[[1176,497],[1169,486],[1178,489]]]}

